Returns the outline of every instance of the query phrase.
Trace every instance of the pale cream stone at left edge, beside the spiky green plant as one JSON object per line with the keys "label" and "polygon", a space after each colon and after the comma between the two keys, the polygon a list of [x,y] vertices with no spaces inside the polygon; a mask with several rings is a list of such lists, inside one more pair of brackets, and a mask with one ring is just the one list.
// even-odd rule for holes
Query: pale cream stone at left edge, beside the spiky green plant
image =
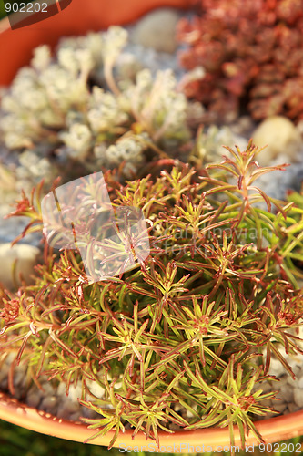
{"label": "pale cream stone at left edge, beside the spiky green plant", "polygon": [[29,284],[39,254],[40,250],[34,245],[15,244],[12,247],[10,243],[0,244],[0,282],[12,289],[15,284],[21,284],[19,276],[22,274]]}

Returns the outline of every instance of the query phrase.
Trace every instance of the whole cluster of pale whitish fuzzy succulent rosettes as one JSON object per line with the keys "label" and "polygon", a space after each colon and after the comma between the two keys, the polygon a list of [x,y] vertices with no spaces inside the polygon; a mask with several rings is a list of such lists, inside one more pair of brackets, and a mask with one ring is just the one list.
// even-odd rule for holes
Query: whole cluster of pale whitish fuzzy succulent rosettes
{"label": "whole cluster of pale whitish fuzzy succulent rosettes", "polygon": [[[55,57],[46,45],[35,49],[31,67],[18,72],[1,103],[2,137],[9,149],[27,149],[21,158],[26,176],[49,173],[42,150],[56,151],[66,163],[81,161],[86,171],[126,161],[124,171],[131,175],[147,148],[168,150],[187,140],[187,100],[171,71],[154,78],[143,69],[136,83],[128,74],[126,84],[116,83],[113,66],[126,41],[126,30],[111,26],[104,33],[61,40]],[[102,87],[90,88],[92,81]]]}

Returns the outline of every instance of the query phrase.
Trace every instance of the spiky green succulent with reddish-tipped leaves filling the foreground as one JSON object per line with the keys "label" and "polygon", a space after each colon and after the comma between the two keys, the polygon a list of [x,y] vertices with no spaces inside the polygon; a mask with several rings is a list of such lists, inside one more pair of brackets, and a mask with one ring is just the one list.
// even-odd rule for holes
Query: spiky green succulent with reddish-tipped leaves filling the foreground
{"label": "spiky green succulent with reddish-tipped leaves filling the foreground", "polygon": [[[90,284],[77,252],[56,255],[45,244],[35,285],[2,290],[1,358],[15,354],[36,383],[47,375],[67,391],[81,381],[81,404],[99,415],[84,421],[102,427],[97,434],[115,430],[110,446],[126,425],[157,442],[158,430],[227,426],[234,444],[234,425],[243,445],[248,430],[262,441],[254,420],[275,395],[262,391],[270,359],[294,376],[283,350],[300,351],[302,272],[293,252],[303,252],[293,204],[255,186],[277,169],[259,168],[257,152],[230,149],[199,172],[176,162],[124,186],[108,171],[114,205],[141,209],[149,223],[146,260]],[[34,192],[24,195],[14,212],[31,218],[26,232],[42,229],[39,192],[36,204]],[[93,201],[94,189],[87,194]]]}

